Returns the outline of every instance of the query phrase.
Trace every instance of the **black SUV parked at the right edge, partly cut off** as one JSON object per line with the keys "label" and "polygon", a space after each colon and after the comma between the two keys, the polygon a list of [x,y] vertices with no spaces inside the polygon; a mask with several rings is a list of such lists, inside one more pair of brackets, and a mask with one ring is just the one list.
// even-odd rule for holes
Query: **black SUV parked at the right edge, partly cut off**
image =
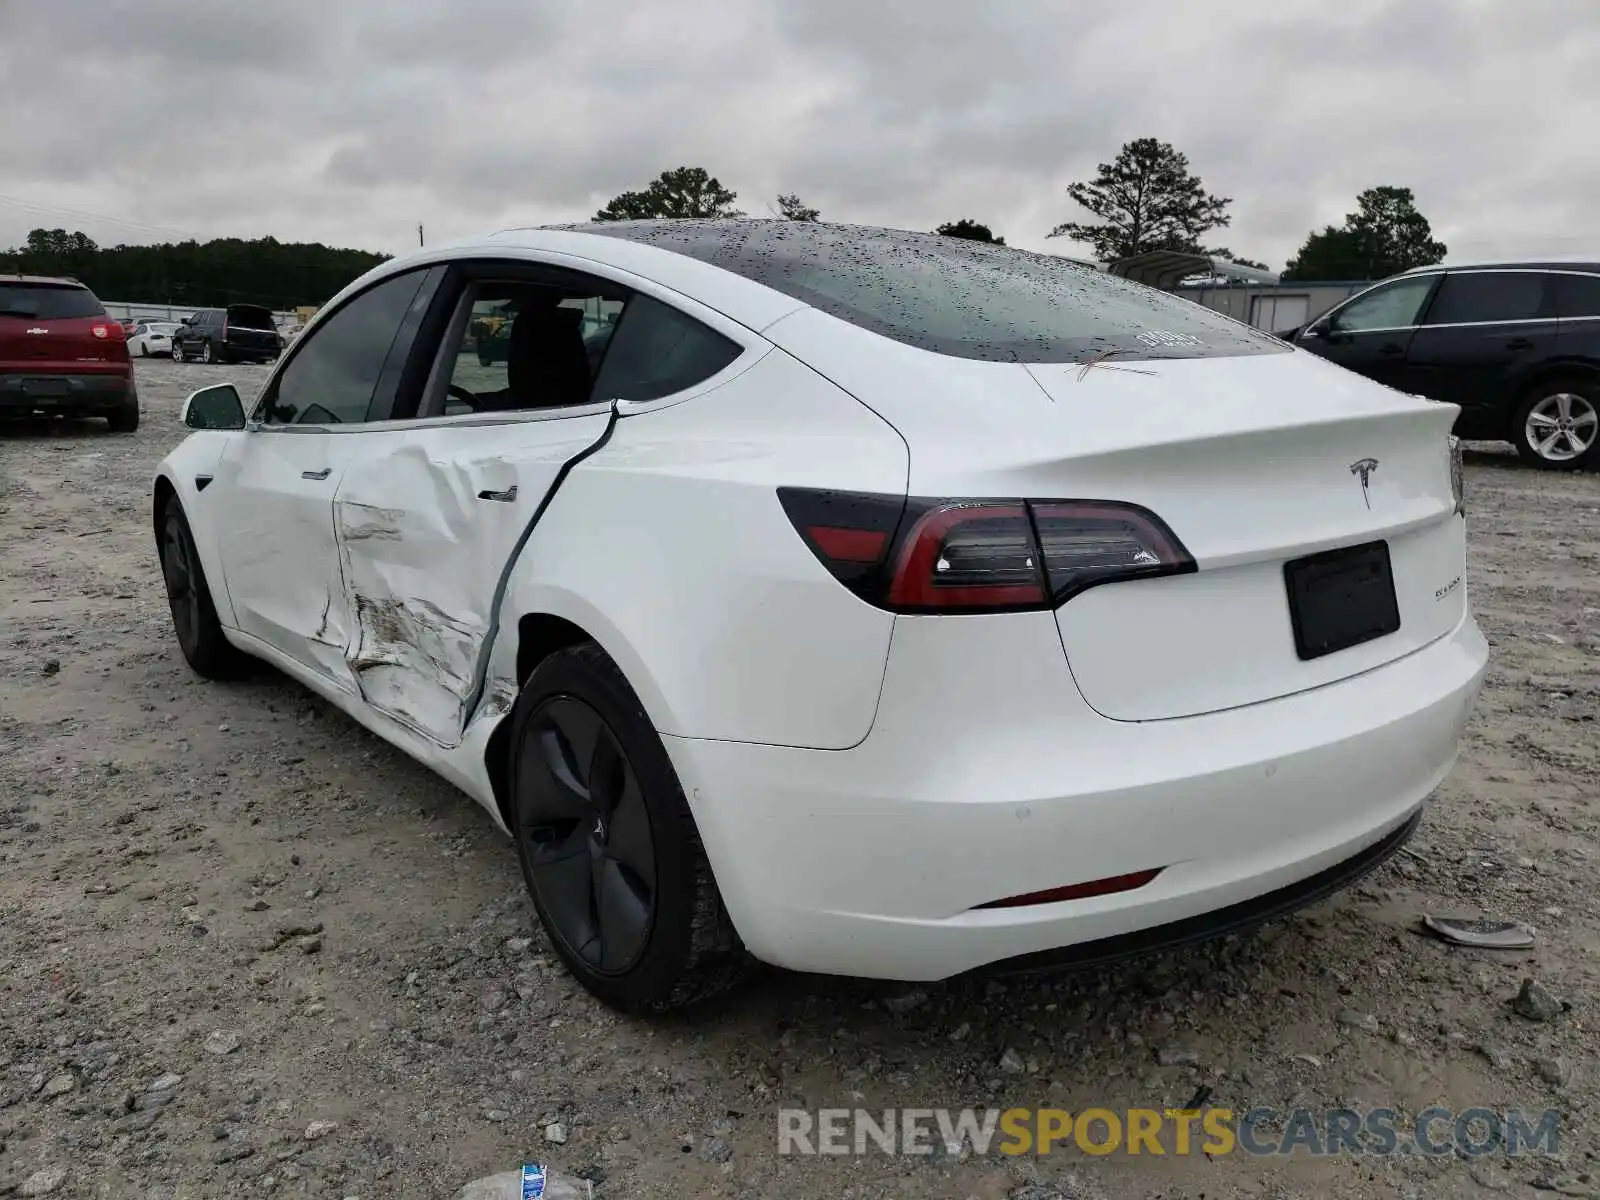
{"label": "black SUV parked at the right edge, partly cut off", "polygon": [[1418,267],[1282,334],[1538,467],[1600,466],[1600,262]]}

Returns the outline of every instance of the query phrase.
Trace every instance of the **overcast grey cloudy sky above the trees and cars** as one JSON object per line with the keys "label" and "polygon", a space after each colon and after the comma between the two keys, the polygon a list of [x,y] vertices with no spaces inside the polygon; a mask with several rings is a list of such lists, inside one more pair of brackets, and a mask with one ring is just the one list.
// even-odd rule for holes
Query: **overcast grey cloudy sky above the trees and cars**
{"label": "overcast grey cloudy sky above the trees and cars", "polygon": [[403,253],[698,165],[766,214],[1085,254],[1133,138],[1280,269],[1371,186],[1446,261],[1600,254],[1600,0],[0,0],[0,246]]}

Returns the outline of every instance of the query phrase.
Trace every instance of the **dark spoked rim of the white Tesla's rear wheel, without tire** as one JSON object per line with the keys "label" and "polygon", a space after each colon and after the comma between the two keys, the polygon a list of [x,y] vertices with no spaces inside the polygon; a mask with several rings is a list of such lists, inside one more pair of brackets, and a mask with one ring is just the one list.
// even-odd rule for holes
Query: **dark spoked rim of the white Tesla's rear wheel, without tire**
{"label": "dark spoked rim of the white Tesla's rear wheel, without tire", "polygon": [[570,696],[531,718],[517,763],[528,870],[562,939],[626,970],[654,920],[656,856],[638,778],[598,712]]}

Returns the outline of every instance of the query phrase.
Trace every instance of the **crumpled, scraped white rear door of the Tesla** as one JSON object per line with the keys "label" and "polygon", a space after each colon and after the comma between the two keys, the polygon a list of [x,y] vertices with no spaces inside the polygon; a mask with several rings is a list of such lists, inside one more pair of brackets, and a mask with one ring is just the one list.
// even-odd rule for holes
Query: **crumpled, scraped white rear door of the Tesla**
{"label": "crumpled, scraped white rear door of the Tesla", "polygon": [[456,746],[494,605],[562,467],[608,406],[435,418],[365,434],[334,496],[350,677],[379,712]]}

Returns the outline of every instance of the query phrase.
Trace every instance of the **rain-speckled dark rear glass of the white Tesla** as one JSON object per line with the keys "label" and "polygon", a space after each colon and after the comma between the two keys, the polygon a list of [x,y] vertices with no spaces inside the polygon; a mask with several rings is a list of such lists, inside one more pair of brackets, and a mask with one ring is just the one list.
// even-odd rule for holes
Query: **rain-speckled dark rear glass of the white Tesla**
{"label": "rain-speckled dark rear glass of the white Tesla", "polygon": [[688,254],[936,354],[1062,363],[1286,354],[1194,301],[1051,254],[934,234],[810,221],[578,226]]}

